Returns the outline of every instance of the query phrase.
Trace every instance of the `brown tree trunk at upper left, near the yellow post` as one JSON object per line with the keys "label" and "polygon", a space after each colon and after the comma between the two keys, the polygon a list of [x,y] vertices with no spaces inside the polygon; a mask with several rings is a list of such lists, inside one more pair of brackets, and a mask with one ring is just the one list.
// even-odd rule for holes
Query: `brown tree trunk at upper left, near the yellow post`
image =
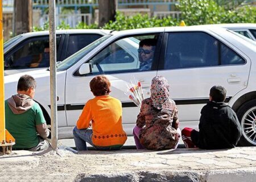
{"label": "brown tree trunk at upper left, near the yellow post", "polygon": [[32,0],[14,0],[14,35],[32,31]]}

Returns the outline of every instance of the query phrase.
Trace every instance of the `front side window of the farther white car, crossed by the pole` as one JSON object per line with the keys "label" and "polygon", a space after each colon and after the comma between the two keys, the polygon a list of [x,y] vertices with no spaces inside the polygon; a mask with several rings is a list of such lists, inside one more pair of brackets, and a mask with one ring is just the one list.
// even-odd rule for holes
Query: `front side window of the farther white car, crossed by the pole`
{"label": "front side window of the farther white car, crossed by the pole", "polygon": [[[60,35],[56,36],[58,49]],[[31,38],[5,55],[5,69],[49,67],[49,37]]]}

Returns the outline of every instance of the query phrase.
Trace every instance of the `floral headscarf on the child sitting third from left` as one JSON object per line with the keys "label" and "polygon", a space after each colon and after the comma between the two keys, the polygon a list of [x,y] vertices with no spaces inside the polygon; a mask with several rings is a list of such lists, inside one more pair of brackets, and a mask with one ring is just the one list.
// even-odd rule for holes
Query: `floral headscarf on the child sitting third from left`
{"label": "floral headscarf on the child sitting third from left", "polygon": [[[169,84],[163,76],[156,76],[151,82],[151,100],[156,109],[162,109],[164,104],[170,102]],[[167,102],[167,103],[166,103]]]}

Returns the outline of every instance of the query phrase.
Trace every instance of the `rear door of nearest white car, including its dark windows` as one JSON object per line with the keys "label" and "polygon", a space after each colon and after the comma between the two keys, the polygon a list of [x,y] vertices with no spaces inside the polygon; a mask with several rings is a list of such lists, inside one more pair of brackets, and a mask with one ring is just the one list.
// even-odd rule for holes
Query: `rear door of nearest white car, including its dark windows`
{"label": "rear door of nearest white car, including its dark windows", "polygon": [[250,60],[228,42],[205,32],[168,32],[164,42],[158,75],[169,81],[181,128],[198,125],[213,85],[226,88],[226,101],[246,88]]}

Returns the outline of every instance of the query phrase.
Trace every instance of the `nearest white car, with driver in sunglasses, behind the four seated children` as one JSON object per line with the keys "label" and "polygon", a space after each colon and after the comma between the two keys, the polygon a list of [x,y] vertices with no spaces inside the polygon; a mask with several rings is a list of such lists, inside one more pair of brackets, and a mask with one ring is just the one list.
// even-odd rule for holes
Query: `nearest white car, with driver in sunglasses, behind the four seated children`
{"label": "nearest white car, with driver in sunglasses, behind the four seated children", "polygon": [[[139,41],[157,40],[152,68],[139,71]],[[5,77],[5,98],[16,93],[25,73]],[[26,72],[37,82],[35,100],[50,123],[49,71]],[[221,27],[157,27],[113,31],[57,65],[57,118],[59,138],[72,137],[73,126],[86,101],[93,98],[89,82],[106,75],[112,95],[122,102],[123,126],[131,135],[139,108],[126,96],[127,83],[141,81],[150,97],[153,77],[162,75],[170,84],[171,98],[179,110],[180,127],[197,127],[200,110],[213,85],[225,86],[226,103],[241,121],[242,145],[256,145],[256,43]]]}

